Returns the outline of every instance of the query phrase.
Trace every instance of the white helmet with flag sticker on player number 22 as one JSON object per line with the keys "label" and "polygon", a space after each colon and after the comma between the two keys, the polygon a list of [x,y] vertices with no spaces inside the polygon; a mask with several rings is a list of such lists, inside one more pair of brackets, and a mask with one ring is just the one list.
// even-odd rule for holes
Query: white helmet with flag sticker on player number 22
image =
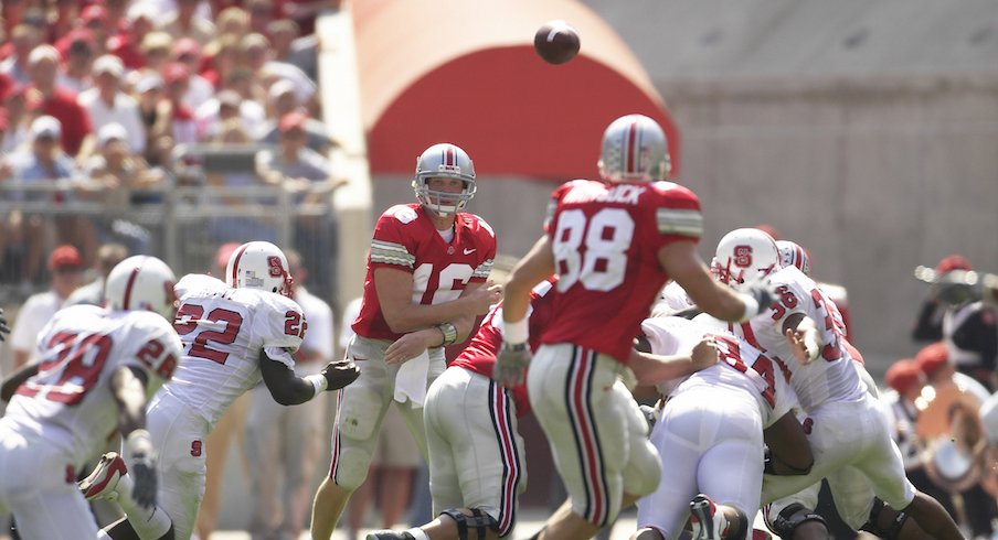
{"label": "white helmet with flag sticker on player number 22", "polygon": [[250,241],[229,257],[225,282],[236,289],[259,289],[290,298],[294,280],[284,251],[268,241]]}

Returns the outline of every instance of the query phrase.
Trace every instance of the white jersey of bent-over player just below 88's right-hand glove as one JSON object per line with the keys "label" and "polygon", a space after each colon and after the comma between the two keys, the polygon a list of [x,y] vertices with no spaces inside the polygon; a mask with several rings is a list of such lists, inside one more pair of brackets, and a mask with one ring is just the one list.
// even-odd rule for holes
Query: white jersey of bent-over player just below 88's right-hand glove
{"label": "white jersey of bent-over player just below 88's right-hand glove", "polygon": [[743,390],[758,402],[763,428],[772,425],[797,404],[781,367],[734,334],[682,317],[647,318],[641,323],[641,332],[657,355],[689,354],[705,335],[714,336],[718,344],[718,364],[659,385],[663,396],[675,396],[701,385]]}

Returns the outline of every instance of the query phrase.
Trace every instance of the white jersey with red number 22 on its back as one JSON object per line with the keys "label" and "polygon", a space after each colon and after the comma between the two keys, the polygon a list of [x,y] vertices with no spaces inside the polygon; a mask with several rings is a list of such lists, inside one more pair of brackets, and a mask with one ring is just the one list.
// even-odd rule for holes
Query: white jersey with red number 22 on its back
{"label": "white jersey with red number 22 on its back", "polygon": [[295,368],[291,355],[308,323],[294,300],[256,289],[233,289],[203,274],[177,283],[173,327],[183,358],[163,388],[200,411],[214,428],[225,409],[261,381],[259,354]]}

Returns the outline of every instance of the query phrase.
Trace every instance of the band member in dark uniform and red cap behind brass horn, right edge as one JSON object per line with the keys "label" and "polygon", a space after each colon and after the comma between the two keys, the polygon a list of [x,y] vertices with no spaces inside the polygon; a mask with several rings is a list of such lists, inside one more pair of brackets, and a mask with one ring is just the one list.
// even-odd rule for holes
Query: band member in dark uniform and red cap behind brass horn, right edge
{"label": "band member in dark uniform and red cap behind brass horn, right edge", "polygon": [[[970,270],[970,261],[959,255],[944,257],[936,273]],[[988,391],[998,388],[998,312],[984,302],[947,304],[930,295],[922,304],[912,331],[919,341],[942,339],[957,371],[974,377]]]}

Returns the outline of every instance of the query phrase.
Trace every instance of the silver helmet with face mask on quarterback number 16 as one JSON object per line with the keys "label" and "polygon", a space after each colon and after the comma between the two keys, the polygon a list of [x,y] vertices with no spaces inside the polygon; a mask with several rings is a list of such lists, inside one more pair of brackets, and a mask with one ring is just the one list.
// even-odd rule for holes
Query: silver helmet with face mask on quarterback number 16
{"label": "silver helmet with face mask on quarterback number 16", "polygon": [[[465,183],[460,193],[432,191],[429,179],[458,179]],[[416,158],[413,190],[423,206],[440,215],[456,214],[468,205],[478,187],[475,185],[475,164],[457,144],[442,142],[427,148]]]}

